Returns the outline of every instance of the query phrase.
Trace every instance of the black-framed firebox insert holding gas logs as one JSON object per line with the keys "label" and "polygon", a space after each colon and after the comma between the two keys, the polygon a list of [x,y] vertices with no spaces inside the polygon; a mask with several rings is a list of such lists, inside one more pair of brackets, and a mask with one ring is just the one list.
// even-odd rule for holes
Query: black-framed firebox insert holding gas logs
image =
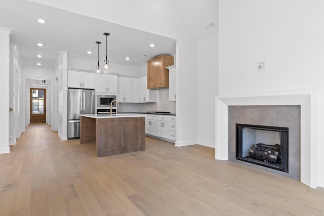
{"label": "black-framed firebox insert holding gas logs", "polygon": [[236,159],[288,172],[288,127],[236,123]]}

